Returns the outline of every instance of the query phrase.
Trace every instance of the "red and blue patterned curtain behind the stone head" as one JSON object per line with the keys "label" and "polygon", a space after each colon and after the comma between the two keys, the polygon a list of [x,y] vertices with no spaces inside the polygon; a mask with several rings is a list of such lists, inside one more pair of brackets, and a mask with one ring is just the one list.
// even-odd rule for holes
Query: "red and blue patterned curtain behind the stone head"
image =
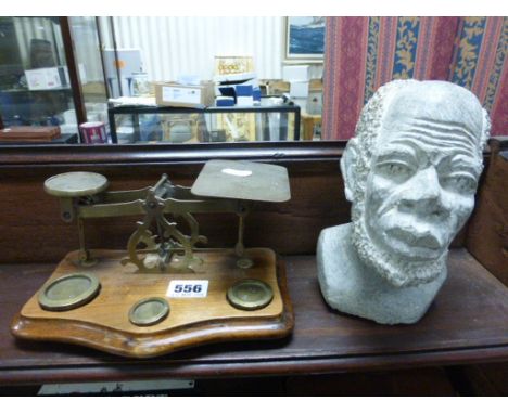
{"label": "red and blue patterned curtain behind the stone head", "polygon": [[322,137],[348,140],[364,104],[392,79],[449,80],[508,134],[508,17],[328,17]]}

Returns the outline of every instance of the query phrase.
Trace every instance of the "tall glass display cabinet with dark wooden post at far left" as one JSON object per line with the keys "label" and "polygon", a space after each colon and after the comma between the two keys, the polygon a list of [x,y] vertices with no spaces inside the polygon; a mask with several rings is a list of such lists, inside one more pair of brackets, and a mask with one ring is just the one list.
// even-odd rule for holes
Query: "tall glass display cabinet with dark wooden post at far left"
{"label": "tall glass display cabinet with dark wooden post at far left", "polygon": [[94,17],[0,17],[0,128],[106,121]]}

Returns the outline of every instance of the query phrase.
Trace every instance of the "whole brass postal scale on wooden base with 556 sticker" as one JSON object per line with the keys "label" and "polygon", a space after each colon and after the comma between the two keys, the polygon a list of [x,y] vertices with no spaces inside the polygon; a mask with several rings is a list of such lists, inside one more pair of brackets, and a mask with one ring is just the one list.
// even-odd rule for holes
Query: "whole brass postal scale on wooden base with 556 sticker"
{"label": "whole brass postal scale on wooden base with 556 sticker", "polygon": [[[94,172],[45,182],[65,222],[77,222],[69,253],[12,323],[20,338],[79,344],[150,358],[203,344],[281,338],[293,327],[283,263],[268,248],[245,248],[252,202],[290,199],[280,166],[231,160],[205,164],[192,187],[163,174],[155,185],[107,191]],[[238,216],[232,248],[202,248],[194,214]],[[127,250],[88,249],[85,222],[141,216]],[[176,219],[187,222],[185,234]]]}

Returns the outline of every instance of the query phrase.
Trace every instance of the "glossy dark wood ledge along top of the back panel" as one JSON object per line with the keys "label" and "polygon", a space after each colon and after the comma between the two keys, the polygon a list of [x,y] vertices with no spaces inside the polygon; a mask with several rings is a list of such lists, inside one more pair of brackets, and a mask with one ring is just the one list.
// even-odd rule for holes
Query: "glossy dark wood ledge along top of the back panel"
{"label": "glossy dark wood ledge along top of the back panel", "polygon": [[215,144],[38,145],[0,148],[0,172],[23,167],[156,166],[205,163],[213,158],[272,160],[338,160],[345,141],[249,142]]}

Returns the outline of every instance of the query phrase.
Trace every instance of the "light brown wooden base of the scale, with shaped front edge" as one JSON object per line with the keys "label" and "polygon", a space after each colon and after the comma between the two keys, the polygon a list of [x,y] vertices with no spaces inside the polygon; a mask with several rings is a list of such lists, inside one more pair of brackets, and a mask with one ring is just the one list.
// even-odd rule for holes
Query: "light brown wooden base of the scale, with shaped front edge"
{"label": "light brown wooden base of the scale, with shaped front edge", "polygon": [[[266,248],[246,250],[250,269],[237,266],[233,249],[196,250],[203,264],[194,273],[140,273],[132,264],[123,266],[124,250],[91,250],[98,262],[78,263],[78,253],[69,253],[45,284],[71,273],[92,274],[100,283],[99,294],[72,310],[49,311],[39,305],[39,292],[15,316],[14,336],[31,340],[78,344],[102,351],[135,358],[151,358],[183,348],[230,340],[275,339],[293,328],[284,266]],[[243,280],[257,280],[271,287],[272,299],[262,309],[242,310],[227,299],[228,289]],[[203,297],[172,297],[172,281],[207,281]],[[169,313],[158,323],[139,326],[129,320],[132,306],[144,298],[164,298]]]}

